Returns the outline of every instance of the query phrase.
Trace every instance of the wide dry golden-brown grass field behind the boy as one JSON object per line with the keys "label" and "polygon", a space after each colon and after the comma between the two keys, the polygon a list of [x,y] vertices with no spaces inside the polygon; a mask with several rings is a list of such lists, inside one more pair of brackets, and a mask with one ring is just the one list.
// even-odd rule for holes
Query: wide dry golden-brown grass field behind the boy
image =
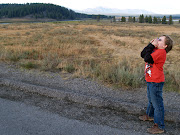
{"label": "wide dry golden-brown grass field behind the boy", "polygon": [[180,24],[82,21],[0,24],[0,60],[24,68],[69,72],[114,87],[138,88],[140,52],[153,38],[170,35],[175,45],[164,66],[166,90],[180,92]]}

